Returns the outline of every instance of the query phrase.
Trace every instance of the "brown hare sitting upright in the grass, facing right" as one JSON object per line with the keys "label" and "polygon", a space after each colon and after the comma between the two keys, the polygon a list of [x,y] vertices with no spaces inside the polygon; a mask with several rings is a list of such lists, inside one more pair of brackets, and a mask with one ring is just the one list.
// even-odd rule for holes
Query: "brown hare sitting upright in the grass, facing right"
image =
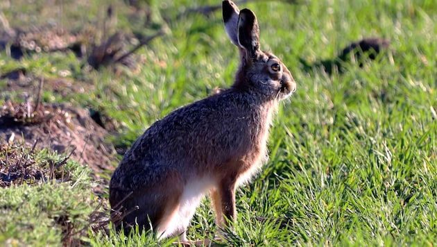
{"label": "brown hare sitting upright in the grass, facing right", "polygon": [[295,91],[295,81],[279,58],[259,49],[251,10],[223,1],[223,21],[241,59],[234,84],[171,112],[132,144],[110,180],[117,229],[138,224],[159,238],[185,242],[208,193],[223,228],[236,219],[235,189],[266,161],[271,119]]}

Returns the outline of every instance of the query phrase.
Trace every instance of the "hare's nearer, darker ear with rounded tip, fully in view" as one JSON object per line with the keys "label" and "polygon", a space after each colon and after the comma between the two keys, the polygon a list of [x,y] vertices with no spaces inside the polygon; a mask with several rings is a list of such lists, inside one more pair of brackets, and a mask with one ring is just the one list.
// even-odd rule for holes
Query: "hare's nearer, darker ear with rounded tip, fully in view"
{"label": "hare's nearer, darker ear with rounded tip, fully in view", "polygon": [[245,8],[240,11],[238,20],[238,42],[248,51],[251,58],[259,54],[259,26],[255,14]]}

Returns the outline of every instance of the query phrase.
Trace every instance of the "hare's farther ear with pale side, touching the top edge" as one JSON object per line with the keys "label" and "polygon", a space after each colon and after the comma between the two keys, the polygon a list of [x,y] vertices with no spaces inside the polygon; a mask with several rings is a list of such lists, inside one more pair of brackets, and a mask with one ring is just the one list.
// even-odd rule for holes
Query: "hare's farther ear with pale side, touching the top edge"
{"label": "hare's farther ear with pale side, touching the top edge", "polygon": [[239,8],[232,1],[223,1],[223,22],[225,23],[225,30],[228,36],[236,46],[240,46],[238,42],[238,18]]}

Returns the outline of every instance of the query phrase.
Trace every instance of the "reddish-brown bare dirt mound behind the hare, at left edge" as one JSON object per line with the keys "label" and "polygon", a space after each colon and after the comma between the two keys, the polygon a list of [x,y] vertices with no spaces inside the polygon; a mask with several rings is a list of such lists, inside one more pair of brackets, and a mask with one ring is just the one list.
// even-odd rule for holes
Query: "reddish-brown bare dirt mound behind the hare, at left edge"
{"label": "reddish-brown bare dirt mound behind the hare, at left edge", "polygon": [[10,101],[0,109],[0,142],[24,142],[50,148],[87,164],[95,178],[110,173],[117,163],[114,147],[105,143],[108,131],[84,109],[62,104],[39,105]]}

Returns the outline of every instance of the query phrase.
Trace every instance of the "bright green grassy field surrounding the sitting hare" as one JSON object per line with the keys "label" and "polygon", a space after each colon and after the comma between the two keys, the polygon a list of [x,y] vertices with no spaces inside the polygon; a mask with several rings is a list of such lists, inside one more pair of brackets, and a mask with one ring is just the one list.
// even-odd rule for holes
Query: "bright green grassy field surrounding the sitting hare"
{"label": "bright green grassy field surrounding the sitting hare", "polygon": [[[108,6],[105,1],[56,1],[51,8],[44,1],[6,2],[0,3],[0,13],[10,26],[26,29],[31,23],[55,22],[71,31],[101,26]],[[71,52],[12,60],[1,51],[0,74],[26,68],[53,78],[68,71],[66,78],[91,83],[92,90],[68,96],[44,92],[42,101],[105,112],[117,127],[110,142],[130,146],[156,119],[215,87],[230,86],[239,62],[225,35],[221,10],[208,17],[196,12],[178,17],[189,8],[221,1],[144,2],[152,12],[146,28],[143,12],[134,13],[123,1],[112,3],[117,20],[112,30],[143,35],[166,30],[137,51],[139,69],[89,71]],[[262,49],[284,61],[298,90],[275,117],[270,160],[250,185],[238,190],[238,221],[226,245],[434,246],[437,2],[253,1],[240,7],[257,14]],[[330,73],[320,67],[363,37],[382,37],[391,44],[376,60],[364,58],[361,67],[354,60],[339,61],[342,69]],[[6,79],[0,87],[6,87]],[[6,99],[24,100],[17,92],[0,92],[0,104]],[[62,160],[62,154],[50,151],[35,155],[36,161]],[[0,160],[4,157],[1,153]],[[60,245],[65,227],[53,222],[65,215],[73,232],[85,228],[82,244],[157,244],[145,233],[124,237],[112,230],[111,235],[86,230],[99,201],[108,205],[107,196],[90,196],[98,181],[89,180],[89,171],[78,162],[69,161],[66,169],[72,174],[69,182],[0,189],[0,245]],[[189,239],[214,236],[209,204],[205,199],[198,208]]]}

